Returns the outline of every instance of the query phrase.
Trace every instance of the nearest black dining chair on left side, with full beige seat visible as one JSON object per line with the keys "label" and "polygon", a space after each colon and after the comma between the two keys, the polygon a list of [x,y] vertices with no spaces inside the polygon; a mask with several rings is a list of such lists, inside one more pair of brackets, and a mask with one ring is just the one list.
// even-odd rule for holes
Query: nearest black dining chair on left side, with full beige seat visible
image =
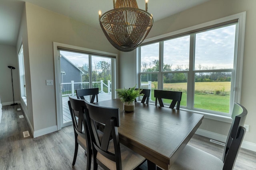
{"label": "nearest black dining chair on left side, with full beige seat visible", "polygon": [[[102,107],[86,101],[86,120],[92,139],[94,170],[98,164],[105,170],[134,170],[146,160],[119,142],[119,108]],[[102,141],[95,123],[105,125]]]}

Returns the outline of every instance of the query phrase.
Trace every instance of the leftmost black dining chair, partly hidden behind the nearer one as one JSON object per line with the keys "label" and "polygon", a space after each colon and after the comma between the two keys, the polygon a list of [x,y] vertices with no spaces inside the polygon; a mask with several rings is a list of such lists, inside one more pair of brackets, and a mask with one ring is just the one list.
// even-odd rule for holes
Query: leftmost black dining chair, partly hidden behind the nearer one
{"label": "leftmost black dining chair, partly hidden behind the nearer one", "polygon": [[[75,152],[72,166],[74,166],[76,163],[78,145],[80,145],[86,151],[87,155],[86,170],[90,170],[92,160],[92,149],[87,121],[84,119],[84,109],[86,108],[84,101],[85,100],[80,100],[69,96],[68,106],[70,109],[75,134]],[[76,117],[78,117],[78,122]]]}

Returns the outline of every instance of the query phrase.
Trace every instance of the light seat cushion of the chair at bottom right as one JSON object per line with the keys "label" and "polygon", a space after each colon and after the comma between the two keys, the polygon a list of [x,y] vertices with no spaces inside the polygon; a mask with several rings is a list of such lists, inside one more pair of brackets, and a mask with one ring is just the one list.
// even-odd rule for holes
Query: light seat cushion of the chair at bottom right
{"label": "light seat cushion of the chair at bottom right", "polygon": [[222,160],[203,150],[186,145],[171,170],[222,170]]}

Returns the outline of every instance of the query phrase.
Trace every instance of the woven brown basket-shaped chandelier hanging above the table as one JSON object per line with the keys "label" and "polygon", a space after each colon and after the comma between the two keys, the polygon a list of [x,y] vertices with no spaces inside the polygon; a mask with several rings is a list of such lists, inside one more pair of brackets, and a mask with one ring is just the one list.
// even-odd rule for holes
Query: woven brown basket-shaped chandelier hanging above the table
{"label": "woven brown basket-shaped chandelier hanging above the table", "polygon": [[118,50],[128,52],[136,49],[148,35],[153,17],[148,11],[138,8],[136,0],[113,0],[114,9],[101,15],[100,27],[108,41]]}

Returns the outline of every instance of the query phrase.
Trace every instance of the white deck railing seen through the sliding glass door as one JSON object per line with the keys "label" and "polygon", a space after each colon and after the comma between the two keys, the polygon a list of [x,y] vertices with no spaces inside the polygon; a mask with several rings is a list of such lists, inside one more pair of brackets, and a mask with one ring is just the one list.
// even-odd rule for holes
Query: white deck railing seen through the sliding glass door
{"label": "white deck railing seen through the sliding glass door", "polygon": [[[76,94],[75,90],[89,88],[89,82],[71,81],[70,83],[62,83],[61,86],[62,96],[74,96]],[[103,80],[100,80],[100,82],[92,82],[92,88],[99,88],[99,92],[111,93],[111,82],[108,80],[108,85],[106,85]]]}

